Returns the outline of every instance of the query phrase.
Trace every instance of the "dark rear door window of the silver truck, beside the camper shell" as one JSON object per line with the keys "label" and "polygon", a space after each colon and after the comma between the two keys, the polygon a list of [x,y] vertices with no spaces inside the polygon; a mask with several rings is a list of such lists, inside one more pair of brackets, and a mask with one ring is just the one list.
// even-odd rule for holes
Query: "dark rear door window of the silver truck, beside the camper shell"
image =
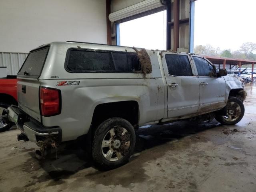
{"label": "dark rear door window of the silver truck, beside the camper shell", "polygon": [[166,54],[165,59],[170,75],[193,76],[188,56]]}

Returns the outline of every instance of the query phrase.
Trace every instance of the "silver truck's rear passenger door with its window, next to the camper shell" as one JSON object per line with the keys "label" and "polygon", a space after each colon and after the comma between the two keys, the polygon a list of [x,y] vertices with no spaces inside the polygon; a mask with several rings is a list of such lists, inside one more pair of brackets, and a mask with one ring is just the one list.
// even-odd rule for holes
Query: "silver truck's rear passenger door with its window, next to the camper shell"
{"label": "silver truck's rear passenger door with its window, next to the camper shell", "polygon": [[199,82],[187,54],[162,53],[168,86],[168,118],[194,114],[199,107]]}

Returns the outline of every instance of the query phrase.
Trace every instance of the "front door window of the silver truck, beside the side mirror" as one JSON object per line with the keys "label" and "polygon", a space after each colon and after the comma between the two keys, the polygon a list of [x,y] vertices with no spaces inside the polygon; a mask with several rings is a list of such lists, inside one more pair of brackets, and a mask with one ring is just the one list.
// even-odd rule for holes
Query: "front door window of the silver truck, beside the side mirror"
{"label": "front door window of the silver truck, beside the side mirror", "polygon": [[194,57],[194,62],[196,64],[196,69],[198,72],[198,76],[201,77],[216,77],[216,71],[214,67],[205,59],[200,57]]}

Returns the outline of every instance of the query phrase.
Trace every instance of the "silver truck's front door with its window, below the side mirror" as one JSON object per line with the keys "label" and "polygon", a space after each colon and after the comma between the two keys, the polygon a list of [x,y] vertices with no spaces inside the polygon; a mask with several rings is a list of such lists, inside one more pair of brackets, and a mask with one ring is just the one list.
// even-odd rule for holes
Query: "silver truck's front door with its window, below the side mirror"
{"label": "silver truck's front door with its window, below the side mirror", "polygon": [[224,107],[226,82],[217,77],[216,69],[206,59],[193,56],[200,84],[200,107],[198,112],[207,112]]}

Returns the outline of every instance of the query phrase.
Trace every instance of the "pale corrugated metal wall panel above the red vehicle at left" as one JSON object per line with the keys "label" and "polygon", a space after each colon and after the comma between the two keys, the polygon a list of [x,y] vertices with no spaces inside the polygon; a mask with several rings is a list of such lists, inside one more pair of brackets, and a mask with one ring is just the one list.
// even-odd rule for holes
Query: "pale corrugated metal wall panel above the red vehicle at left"
{"label": "pale corrugated metal wall panel above the red vehicle at left", "polygon": [[16,75],[28,53],[0,52],[0,67],[7,67],[8,75]]}

